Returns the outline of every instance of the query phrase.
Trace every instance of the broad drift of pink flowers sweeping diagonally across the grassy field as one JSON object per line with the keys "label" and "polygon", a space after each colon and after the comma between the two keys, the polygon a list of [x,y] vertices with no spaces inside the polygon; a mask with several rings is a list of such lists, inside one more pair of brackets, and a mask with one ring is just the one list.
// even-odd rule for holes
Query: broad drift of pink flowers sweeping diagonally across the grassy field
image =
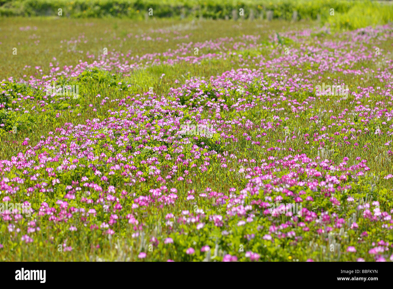
{"label": "broad drift of pink flowers sweeping diagonally across the grassy field", "polygon": [[[297,246],[306,232],[312,232],[320,240],[330,236],[342,240],[343,232],[352,230],[357,243],[345,244],[343,250],[349,256],[359,252],[357,244],[372,240],[361,229],[364,226],[372,225],[379,232],[391,233],[393,208],[382,210],[379,201],[359,198],[358,191],[362,190],[362,180],[371,179],[372,173],[370,160],[360,156],[372,144],[363,140],[377,135],[383,137],[386,149],[391,146],[393,60],[385,58],[386,68],[378,76],[380,87],[351,88],[351,108],[316,111],[314,105],[321,97],[332,105],[342,100],[317,97],[315,85],[307,81],[326,72],[366,78],[373,71],[354,70],[353,66],[362,61],[380,61],[367,45],[376,37],[378,43],[391,39],[391,26],[343,33],[337,42],[316,39],[314,46],[305,42],[310,31],[288,32],[285,36],[301,44],[290,55],[277,48],[266,57],[219,53],[229,50],[226,42],[231,43],[230,50],[262,46],[257,44],[257,36],[246,35],[236,41],[222,38],[198,44],[189,42],[174,51],[141,57],[111,52],[90,64],[79,63],[63,70],[56,65],[49,77],[31,77],[28,85],[44,87],[59,76],[77,76],[92,67],[128,73],[146,66],[199,63],[203,59],[226,59],[228,55],[244,64],[243,68],[209,79],[191,78],[180,87],[171,88],[165,96],[149,92],[110,99],[98,95],[101,106],[112,101],[118,109],[108,110],[104,118],[64,123],[35,144],[26,138],[23,150],[8,160],[0,160],[0,190],[3,202],[21,199],[26,205],[32,202],[33,221],[5,211],[0,218],[6,231],[0,233],[29,244],[40,234],[43,224],[66,224],[64,234],[69,239],[84,230],[116,236],[127,226],[136,239],[148,227],[143,214],[164,210],[160,225],[169,234],[179,227],[182,233],[190,230],[198,235],[207,226],[220,231],[222,236],[233,234],[231,229],[243,232],[243,228],[255,228],[242,239],[248,244],[263,242],[266,246],[280,241]],[[147,35],[138,37],[153,40]],[[75,41],[87,40],[79,37]],[[272,41],[277,39],[272,37]],[[190,56],[195,46],[216,53]],[[334,53],[324,47],[334,49]],[[356,53],[348,53],[344,47]],[[314,68],[292,75],[290,69],[301,68],[304,63]],[[332,81],[343,83],[340,77]],[[381,100],[373,103],[371,95]],[[51,96],[44,99],[34,101],[30,96],[20,95],[21,105],[15,110],[44,110],[51,103]],[[96,111],[93,105],[92,109]],[[257,114],[261,117],[253,117]],[[233,117],[229,119],[228,115]],[[307,130],[294,125],[300,115],[307,115],[303,124]],[[374,127],[375,120],[378,128]],[[184,123],[209,126],[214,137],[185,136]],[[334,163],[334,148],[350,150],[351,162],[345,156]],[[243,153],[246,149],[257,153],[247,155]],[[388,157],[392,155],[389,152]],[[222,189],[221,180],[211,181],[209,187],[195,186],[201,183],[201,176],[217,168],[222,175],[230,176],[226,182],[232,183],[227,183],[226,189]],[[384,179],[389,181],[392,177],[389,173]],[[241,187],[237,186],[239,183]],[[209,210],[198,207],[201,203],[209,206]],[[271,210],[276,203],[278,206]],[[289,211],[291,204],[301,204],[296,207],[299,211]],[[261,225],[261,220],[266,222]],[[173,235],[148,236],[148,240],[154,248],[176,245]],[[183,252],[195,256],[210,254],[214,248],[210,243],[199,245],[186,245]],[[64,251],[73,249],[65,241],[63,247]],[[391,243],[378,241],[368,254],[376,261],[385,261],[392,259],[391,249]],[[247,260],[264,258],[260,252],[251,250],[243,254]],[[237,251],[226,253],[222,254],[223,261],[238,260]],[[139,259],[148,256],[148,252],[138,254]]]}

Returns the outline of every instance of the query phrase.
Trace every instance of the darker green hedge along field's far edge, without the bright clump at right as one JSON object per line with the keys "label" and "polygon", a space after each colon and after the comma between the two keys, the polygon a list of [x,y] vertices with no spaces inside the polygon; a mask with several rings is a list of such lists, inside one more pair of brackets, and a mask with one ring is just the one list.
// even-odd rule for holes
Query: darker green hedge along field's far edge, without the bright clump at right
{"label": "darker green hedge along field's far edge, without the bright clump at right", "polygon": [[298,18],[316,19],[317,15],[329,15],[329,9],[338,12],[348,11],[356,2],[353,1],[312,1],[312,0],[279,0],[255,1],[241,0],[19,0],[7,2],[0,7],[0,15],[11,16],[57,16],[58,9],[62,15],[81,17],[128,17],[143,18],[150,8],[154,17],[206,17],[213,19],[232,18],[232,10],[239,12],[244,9],[244,17],[249,17],[251,10],[254,15],[266,17],[266,11],[272,10],[274,18],[292,19],[293,11],[298,11]]}

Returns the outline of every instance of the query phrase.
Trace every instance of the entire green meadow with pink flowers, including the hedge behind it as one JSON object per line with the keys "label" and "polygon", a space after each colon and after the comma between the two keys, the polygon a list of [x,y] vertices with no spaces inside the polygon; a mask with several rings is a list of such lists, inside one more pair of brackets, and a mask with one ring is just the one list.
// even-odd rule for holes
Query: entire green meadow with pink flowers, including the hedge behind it
{"label": "entire green meadow with pink flowers, including the hedge behind it", "polygon": [[0,260],[393,261],[390,4],[81,3],[0,2]]}

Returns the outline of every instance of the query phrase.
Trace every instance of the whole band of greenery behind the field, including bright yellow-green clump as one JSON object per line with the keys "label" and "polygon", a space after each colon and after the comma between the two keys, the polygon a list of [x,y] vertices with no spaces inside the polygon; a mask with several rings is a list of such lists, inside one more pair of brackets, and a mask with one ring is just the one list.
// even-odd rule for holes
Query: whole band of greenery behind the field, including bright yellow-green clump
{"label": "whole band of greenery behind the field, including bright yellow-green clump", "polygon": [[[291,20],[294,11],[298,20],[317,19],[330,23],[336,28],[356,29],[367,25],[386,24],[391,21],[393,8],[389,4],[347,0],[17,0],[0,1],[0,16],[62,16],[73,18],[125,17],[142,19],[149,9],[153,16],[204,17],[212,19],[233,18],[232,11],[244,17],[266,18],[267,11],[273,11],[273,18]],[[334,9],[334,17],[330,11]],[[376,12],[374,12],[376,11]]]}

